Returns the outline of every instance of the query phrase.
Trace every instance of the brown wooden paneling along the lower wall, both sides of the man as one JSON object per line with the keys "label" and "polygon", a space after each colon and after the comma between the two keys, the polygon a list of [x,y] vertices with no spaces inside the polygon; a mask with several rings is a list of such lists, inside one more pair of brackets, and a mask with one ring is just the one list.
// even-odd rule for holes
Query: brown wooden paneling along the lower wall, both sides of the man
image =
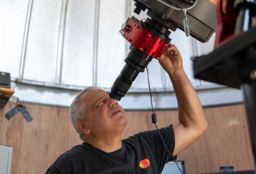
{"label": "brown wooden paneling along the lower wall, both sides of the man", "polygon": [[[0,144],[13,147],[11,173],[44,173],[58,156],[81,144],[72,127],[68,109],[35,105],[25,106],[33,121],[19,113],[7,120],[5,114],[15,107],[8,103],[0,110]],[[232,165],[235,170],[253,169],[253,157],[243,105],[204,109],[209,126],[205,134],[178,154],[187,173],[218,172],[219,166]],[[123,138],[155,129],[151,112],[126,112],[129,124]],[[157,111],[157,126],[178,121],[178,111]]]}

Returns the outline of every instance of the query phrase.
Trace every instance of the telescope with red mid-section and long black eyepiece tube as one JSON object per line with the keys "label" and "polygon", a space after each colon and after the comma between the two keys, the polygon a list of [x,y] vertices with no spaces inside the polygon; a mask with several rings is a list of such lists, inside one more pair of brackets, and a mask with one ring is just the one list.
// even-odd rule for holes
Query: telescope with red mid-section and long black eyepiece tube
{"label": "telescope with red mid-section and long black eyepiece tube", "polygon": [[121,100],[132,82],[153,58],[159,59],[170,44],[171,32],[180,29],[191,37],[207,42],[217,26],[216,5],[211,1],[136,0],[134,12],[147,11],[140,21],[128,18],[119,31],[130,42],[125,65],[111,87],[110,97]]}

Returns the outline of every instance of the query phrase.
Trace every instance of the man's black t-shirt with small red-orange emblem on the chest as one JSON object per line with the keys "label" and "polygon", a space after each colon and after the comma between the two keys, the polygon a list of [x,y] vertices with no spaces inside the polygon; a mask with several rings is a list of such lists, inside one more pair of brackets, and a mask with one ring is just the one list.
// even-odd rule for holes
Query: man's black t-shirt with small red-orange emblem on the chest
{"label": "man's black t-shirt with small red-orange emblem on the chest", "polygon": [[[159,129],[169,151],[174,151],[172,125]],[[161,173],[165,163],[171,161],[161,137],[154,131],[135,134],[122,140],[122,147],[106,153],[90,144],[74,146],[63,153],[46,173]]]}

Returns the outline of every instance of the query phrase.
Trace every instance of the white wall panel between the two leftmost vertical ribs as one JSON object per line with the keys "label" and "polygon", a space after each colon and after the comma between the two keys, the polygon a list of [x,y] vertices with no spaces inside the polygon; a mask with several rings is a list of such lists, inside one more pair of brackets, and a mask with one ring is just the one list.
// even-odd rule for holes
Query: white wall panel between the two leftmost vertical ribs
{"label": "white wall panel between the two leftmost vertical ribs", "polygon": [[59,0],[34,0],[24,79],[55,81],[61,3]]}

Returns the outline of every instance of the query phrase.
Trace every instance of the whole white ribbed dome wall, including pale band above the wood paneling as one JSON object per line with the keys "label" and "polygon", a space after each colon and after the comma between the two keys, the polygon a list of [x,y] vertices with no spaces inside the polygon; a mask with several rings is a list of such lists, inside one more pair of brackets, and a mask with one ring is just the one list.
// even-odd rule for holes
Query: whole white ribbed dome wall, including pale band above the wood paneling
{"label": "whole white ribbed dome wall, including pale band above the wood paneling", "polygon": [[[65,24],[63,22],[65,18],[62,20],[60,18],[61,11],[65,9],[62,8],[62,2],[66,1],[0,0],[0,71],[11,72],[12,77],[19,76],[28,2],[34,2],[30,25],[28,25],[28,44],[23,76],[25,80],[21,79],[23,83],[17,82],[17,86],[13,87],[14,96],[21,100],[68,106],[82,86],[94,84],[100,88],[110,89],[125,64],[124,58],[127,46],[130,44],[127,44],[127,41],[119,34],[119,30],[122,23],[126,21],[129,9],[134,8],[133,5],[130,6],[134,2],[131,0],[68,0]],[[97,2],[100,2],[99,9]],[[127,2],[131,7],[128,10]],[[147,17],[145,13],[142,12],[140,16],[132,15],[143,19]],[[65,14],[62,14],[63,16]],[[63,28],[60,30],[60,27]],[[62,31],[65,32],[58,43],[58,37],[62,37]],[[242,93],[239,90],[223,88],[219,85],[214,85],[214,89],[212,83],[203,81],[198,83],[193,78],[191,56],[210,53],[213,49],[214,37],[202,44],[191,37],[187,38],[182,31],[177,29],[171,33],[170,38],[172,44],[175,44],[181,52],[185,71],[198,89],[197,92],[203,105],[242,101]],[[60,56],[62,46],[58,44],[63,44],[62,56]],[[60,48],[59,56],[57,56],[58,48]],[[59,58],[58,64],[57,57]],[[57,66],[62,72],[61,84],[54,84],[59,82],[58,75],[60,74],[55,74],[59,72],[59,69],[58,71],[56,69]],[[158,91],[153,92],[154,107],[177,107],[174,92],[170,91],[172,84],[169,76],[163,71],[158,61],[153,59],[148,68],[151,88],[153,91]],[[58,76],[57,79],[55,75]],[[66,89],[49,88],[49,86]],[[126,109],[150,108],[149,93],[145,91],[148,91],[146,71],[139,74],[132,89],[120,101],[121,105],[123,104]]]}

